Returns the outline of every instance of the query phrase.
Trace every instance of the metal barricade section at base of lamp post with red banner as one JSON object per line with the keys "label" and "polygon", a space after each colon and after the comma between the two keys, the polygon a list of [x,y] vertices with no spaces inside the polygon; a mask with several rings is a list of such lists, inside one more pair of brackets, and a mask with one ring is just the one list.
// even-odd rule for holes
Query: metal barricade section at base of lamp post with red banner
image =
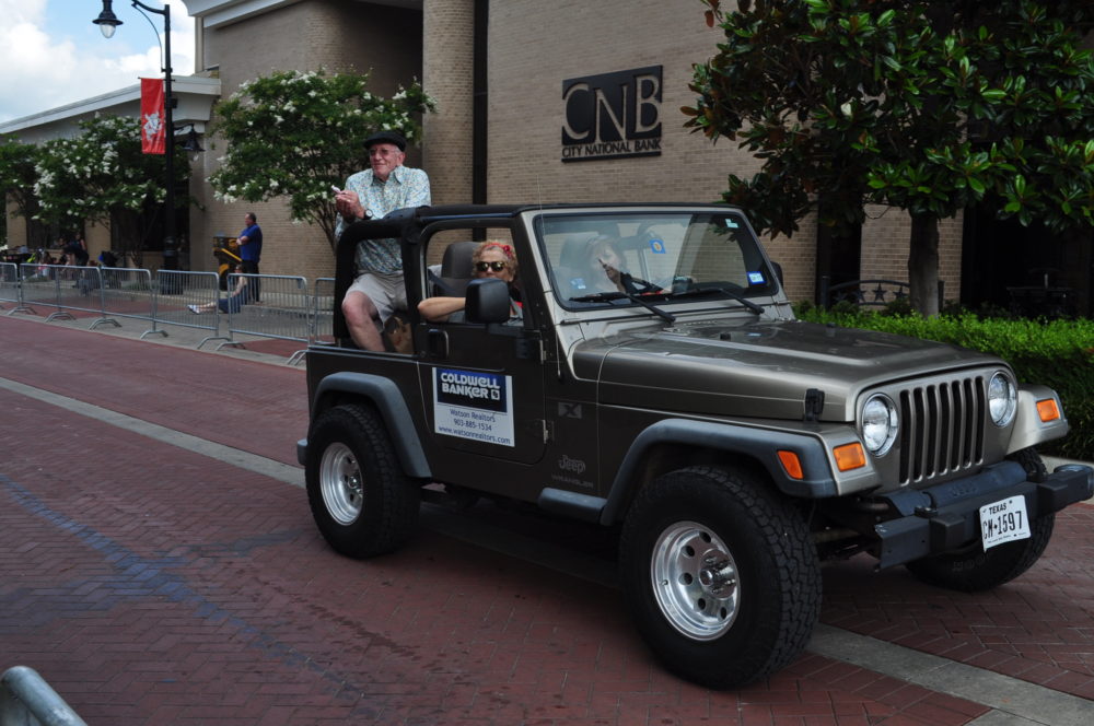
{"label": "metal barricade section at base of lamp post with red banner", "polygon": [[[198,343],[201,348],[210,340],[230,340],[220,332],[220,279],[216,272],[184,272],[181,270],[158,270],[152,288],[152,328],[141,335],[141,339],[153,332],[166,336],[159,324],[177,325],[186,328],[209,330]],[[200,314],[195,314],[195,309]]]}

